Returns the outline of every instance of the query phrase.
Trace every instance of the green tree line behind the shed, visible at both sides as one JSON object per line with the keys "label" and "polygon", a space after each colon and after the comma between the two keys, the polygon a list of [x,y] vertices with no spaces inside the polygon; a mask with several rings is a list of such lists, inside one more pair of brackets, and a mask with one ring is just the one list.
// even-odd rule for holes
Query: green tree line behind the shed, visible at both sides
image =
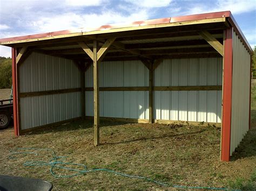
{"label": "green tree line behind the shed, visible at both sides", "polygon": [[[253,78],[256,79],[256,46],[253,49]],[[11,58],[5,58],[0,56],[0,89],[11,88]]]}

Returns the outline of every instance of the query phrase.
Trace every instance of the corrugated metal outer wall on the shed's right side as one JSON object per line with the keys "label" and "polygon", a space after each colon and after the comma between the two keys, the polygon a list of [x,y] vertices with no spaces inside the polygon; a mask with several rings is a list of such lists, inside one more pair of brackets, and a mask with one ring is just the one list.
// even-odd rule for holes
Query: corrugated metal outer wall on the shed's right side
{"label": "corrugated metal outer wall on the shed's right side", "polygon": [[232,112],[230,155],[249,129],[251,56],[233,32]]}

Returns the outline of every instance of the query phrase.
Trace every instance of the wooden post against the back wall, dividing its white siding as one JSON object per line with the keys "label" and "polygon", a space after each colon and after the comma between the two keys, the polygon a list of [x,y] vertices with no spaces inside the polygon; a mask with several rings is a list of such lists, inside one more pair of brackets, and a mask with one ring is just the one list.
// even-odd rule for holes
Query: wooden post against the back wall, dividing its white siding
{"label": "wooden post against the back wall, dividing its white siding", "polygon": [[153,63],[150,63],[149,69],[149,123],[154,123],[153,119],[153,86],[154,86],[154,70]]}

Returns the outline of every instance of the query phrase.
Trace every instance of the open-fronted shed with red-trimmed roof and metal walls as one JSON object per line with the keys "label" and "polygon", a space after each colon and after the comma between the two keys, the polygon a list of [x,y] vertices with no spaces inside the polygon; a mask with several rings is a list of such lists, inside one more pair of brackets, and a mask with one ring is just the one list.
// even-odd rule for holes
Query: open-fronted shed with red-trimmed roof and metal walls
{"label": "open-fronted shed with red-trimmed roof and metal walls", "polygon": [[94,117],[250,129],[252,49],[230,11],[0,39],[12,47],[15,135]]}

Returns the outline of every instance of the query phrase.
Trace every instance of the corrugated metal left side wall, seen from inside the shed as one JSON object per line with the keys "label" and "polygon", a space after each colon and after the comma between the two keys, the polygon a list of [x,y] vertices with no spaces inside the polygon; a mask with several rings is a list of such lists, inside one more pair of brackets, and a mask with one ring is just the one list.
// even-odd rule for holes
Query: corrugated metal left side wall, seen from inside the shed
{"label": "corrugated metal left side wall, seen from inside the shed", "polygon": [[[71,60],[32,53],[19,68],[20,92],[80,87],[79,69]],[[21,129],[81,116],[80,92],[22,97]]]}

